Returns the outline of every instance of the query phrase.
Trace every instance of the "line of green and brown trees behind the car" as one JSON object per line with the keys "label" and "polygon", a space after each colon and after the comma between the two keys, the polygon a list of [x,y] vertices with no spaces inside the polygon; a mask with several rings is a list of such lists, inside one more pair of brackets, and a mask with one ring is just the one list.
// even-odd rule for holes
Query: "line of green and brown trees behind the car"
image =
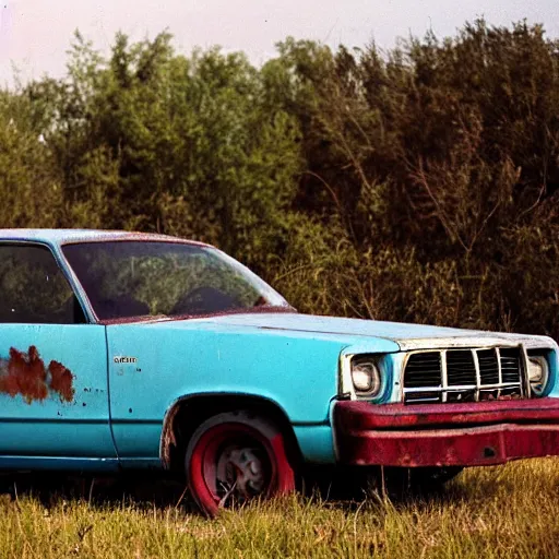
{"label": "line of green and brown trees behind the car", "polygon": [[0,226],[211,242],[300,311],[559,337],[559,41],[467,23],[255,68],[171,37],[0,91]]}

